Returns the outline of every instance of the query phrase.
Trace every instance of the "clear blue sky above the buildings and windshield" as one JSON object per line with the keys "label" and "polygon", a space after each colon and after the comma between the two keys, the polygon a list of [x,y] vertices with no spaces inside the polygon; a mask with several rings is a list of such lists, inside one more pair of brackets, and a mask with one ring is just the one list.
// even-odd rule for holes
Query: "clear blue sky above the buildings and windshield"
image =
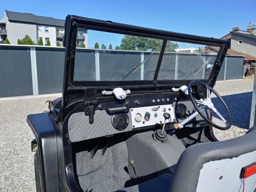
{"label": "clear blue sky above the buildings and windshield", "polygon": [[[253,16],[256,0],[246,1],[65,1],[38,0],[18,1],[0,0],[0,17],[4,10],[15,12],[31,12],[35,15],[65,19],[68,14],[79,15],[100,20],[111,20],[125,24],[168,31],[187,33],[199,36],[220,38],[229,33],[233,27],[246,30],[246,24],[256,23]],[[2,14],[2,15],[1,15]],[[88,34],[89,47],[97,41],[100,46],[111,43],[119,45],[120,35],[111,36]],[[96,39],[97,38],[97,39]],[[120,39],[121,40],[121,39]],[[114,42],[113,42],[114,41]],[[180,44],[180,47],[189,47]]]}

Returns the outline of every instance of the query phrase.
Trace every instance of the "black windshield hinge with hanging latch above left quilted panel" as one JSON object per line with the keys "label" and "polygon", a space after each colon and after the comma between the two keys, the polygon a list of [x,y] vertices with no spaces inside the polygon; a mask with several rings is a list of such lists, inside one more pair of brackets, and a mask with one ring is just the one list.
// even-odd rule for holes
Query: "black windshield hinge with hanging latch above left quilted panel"
{"label": "black windshield hinge with hanging latch above left quilted panel", "polygon": [[96,87],[84,87],[84,114],[89,115],[89,123],[93,124],[93,116],[97,104]]}

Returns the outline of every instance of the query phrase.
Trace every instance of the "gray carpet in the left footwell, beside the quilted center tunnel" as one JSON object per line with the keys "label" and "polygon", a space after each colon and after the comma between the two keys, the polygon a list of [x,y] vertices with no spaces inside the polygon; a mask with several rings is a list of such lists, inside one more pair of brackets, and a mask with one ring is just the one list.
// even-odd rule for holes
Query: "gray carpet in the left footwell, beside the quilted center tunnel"
{"label": "gray carpet in the left footwell, beside the quilted center tunnel", "polygon": [[[101,148],[99,146],[99,148]],[[105,154],[98,149],[93,158],[88,151],[76,153],[77,176],[84,191],[116,191],[131,180],[128,170],[128,152],[125,141],[109,143]]]}

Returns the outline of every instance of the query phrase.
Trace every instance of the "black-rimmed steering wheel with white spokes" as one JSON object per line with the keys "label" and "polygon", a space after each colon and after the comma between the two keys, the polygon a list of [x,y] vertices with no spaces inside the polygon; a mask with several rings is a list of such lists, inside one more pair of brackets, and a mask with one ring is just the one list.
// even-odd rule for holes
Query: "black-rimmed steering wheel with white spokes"
{"label": "black-rimmed steering wheel with white spokes", "polygon": [[[203,99],[197,100],[197,99],[195,99],[193,97],[192,91],[191,91],[191,86],[192,86],[192,84],[195,84],[195,83],[202,84],[202,85],[204,85],[204,87],[206,87],[206,89],[207,89],[206,99],[204,99],[204,100]],[[228,113],[228,121],[226,121],[226,119],[224,119],[224,117],[221,116],[220,113],[217,111],[217,109],[214,107],[214,105],[212,103],[212,100],[211,100],[210,91],[212,91],[220,99],[220,101],[224,105],[224,107],[225,107],[225,109],[226,109],[226,111]],[[197,80],[197,79],[196,80],[192,80],[188,84],[188,95],[189,95],[190,100],[191,100],[192,104],[194,105],[196,111],[204,118],[205,121],[207,121],[213,127],[217,128],[217,129],[220,129],[220,130],[228,130],[231,127],[231,125],[232,125],[232,116],[231,116],[231,113],[230,113],[230,111],[228,109],[227,104],[220,97],[220,94],[217,93],[214,89],[212,89],[212,87],[210,87],[208,84],[204,83],[203,81]],[[199,108],[200,106],[202,106],[202,108]],[[212,109],[212,111],[214,111],[220,117],[220,119],[222,119],[222,121],[225,122],[226,127],[221,127],[219,125],[214,124],[212,121],[210,121],[210,119],[208,119],[203,114],[203,110],[206,110],[206,109]]]}

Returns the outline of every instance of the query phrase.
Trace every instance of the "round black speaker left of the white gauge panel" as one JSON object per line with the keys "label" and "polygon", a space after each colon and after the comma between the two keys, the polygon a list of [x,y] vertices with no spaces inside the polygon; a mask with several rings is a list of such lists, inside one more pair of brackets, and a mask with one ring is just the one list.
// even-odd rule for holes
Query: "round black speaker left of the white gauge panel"
{"label": "round black speaker left of the white gauge panel", "polygon": [[112,116],[112,125],[118,131],[123,131],[129,124],[129,117],[126,113],[115,114]]}

